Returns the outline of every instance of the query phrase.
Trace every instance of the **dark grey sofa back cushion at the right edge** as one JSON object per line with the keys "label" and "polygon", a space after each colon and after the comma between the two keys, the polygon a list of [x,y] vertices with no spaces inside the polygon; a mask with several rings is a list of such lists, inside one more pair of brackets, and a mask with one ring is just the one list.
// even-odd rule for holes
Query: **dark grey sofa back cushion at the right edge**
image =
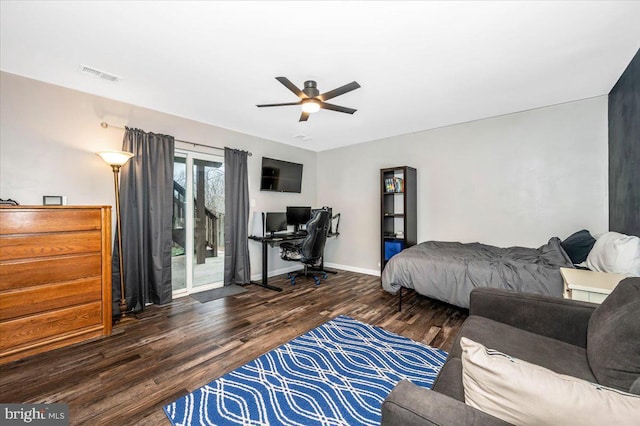
{"label": "dark grey sofa back cushion at the right edge", "polygon": [[640,278],[625,278],[593,312],[587,357],[598,383],[629,390],[640,376]]}

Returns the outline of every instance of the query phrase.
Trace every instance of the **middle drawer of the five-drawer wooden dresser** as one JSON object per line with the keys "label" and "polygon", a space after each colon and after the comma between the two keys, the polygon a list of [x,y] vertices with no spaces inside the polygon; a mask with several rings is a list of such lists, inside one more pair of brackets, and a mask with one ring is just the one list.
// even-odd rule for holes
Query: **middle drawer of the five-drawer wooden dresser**
{"label": "middle drawer of the five-drawer wooden dresser", "polygon": [[0,291],[94,277],[102,273],[100,253],[0,262]]}

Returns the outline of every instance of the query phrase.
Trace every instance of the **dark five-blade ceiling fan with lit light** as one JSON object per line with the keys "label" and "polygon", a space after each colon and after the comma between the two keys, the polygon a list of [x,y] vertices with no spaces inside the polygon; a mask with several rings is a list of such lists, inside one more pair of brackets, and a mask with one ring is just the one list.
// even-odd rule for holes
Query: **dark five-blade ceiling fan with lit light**
{"label": "dark five-blade ceiling fan with lit light", "polygon": [[272,107],[272,106],[287,106],[287,105],[301,105],[302,106],[302,114],[300,115],[300,120],[298,121],[307,121],[309,119],[309,114],[313,112],[317,112],[322,109],[328,109],[331,111],[344,112],[346,114],[353,114],[356,112],[356,109],[347,108],[339,105],[334,105],[327,103],[329,99],[335,98],[336,96],[344,95],[347,92],[355,90],[360,87],[358,83],[352,81],[351,83],[345,84],[344,86],[338,87],[337,89],[329,90],[323,94],[320,94],[318,90],[317,84],[313,80],[308,80],[304,82],[304,89],[300,90],[293,84],[287,77],[276,77],[280,83],[282,83],[287,89],[291,90],[300,98],[298,102],[286,102],[282,104],[263,104],[256,105],[258,108],[263,107]]}

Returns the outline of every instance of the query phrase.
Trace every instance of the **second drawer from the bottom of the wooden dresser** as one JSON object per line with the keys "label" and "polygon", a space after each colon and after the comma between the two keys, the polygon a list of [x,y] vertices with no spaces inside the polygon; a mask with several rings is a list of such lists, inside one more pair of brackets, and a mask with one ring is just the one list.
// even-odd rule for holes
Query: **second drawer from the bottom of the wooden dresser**
{"label": "second drawer from the bottom of the wooden dresser", "polygon": [[0,293],[0,320],[100,301],[100,276]]}

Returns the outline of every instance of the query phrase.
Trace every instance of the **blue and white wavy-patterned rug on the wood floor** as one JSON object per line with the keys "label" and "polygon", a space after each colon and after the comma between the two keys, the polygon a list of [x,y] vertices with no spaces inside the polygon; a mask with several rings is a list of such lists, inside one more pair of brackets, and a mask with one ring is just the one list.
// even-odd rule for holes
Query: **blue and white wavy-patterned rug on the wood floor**
{"label": "blue and white wavy-patterned rug on the wood floor", "polygon": [[164,407],[174,426],[379,425],[402,379],[431,388],[447,353],[339,316]]}

